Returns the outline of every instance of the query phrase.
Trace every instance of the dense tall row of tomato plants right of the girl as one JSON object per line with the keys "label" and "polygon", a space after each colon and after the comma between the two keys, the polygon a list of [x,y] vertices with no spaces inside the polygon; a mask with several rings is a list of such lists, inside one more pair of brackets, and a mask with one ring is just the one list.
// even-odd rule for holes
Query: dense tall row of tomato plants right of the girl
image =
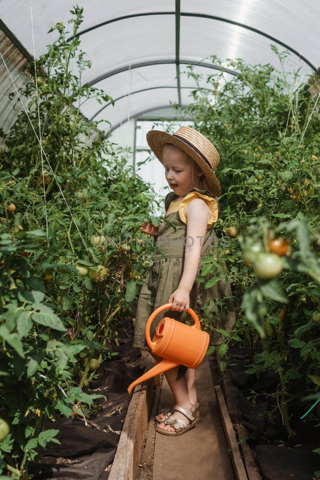
{"label": "dense tall row of tomato plants right of the girl", "polygon": [[[206,79],[212,98],[203,94],[201,73],[188,66],[183,73],[197,88],[183,113],[192,116],[193,127],[213,142],[223,159],[215,171],[222,191],[215,234],[223,237],[230,225],[241,232],[201,259],[213,279],[223,269],[234,292],[235,332],[233,337],[221,332],[221,353],[227,352],[231,338],[244,339],[247,372],[273,370],[279,375],[278,420],[292,435],[298,402],[312,394],[320,377],[319,76],[310,75],[293,96],[298,72],[288,81],[289,52],[271,48],[282,71],[271,64],[228,60],[239,75],[223,84],[224,59],[211,56],[221,68]],[[227,299],[212,301],[231,318]],[[205,323],[219,330],[209,313]],[[319,418],[319,409],[315,414]]]}

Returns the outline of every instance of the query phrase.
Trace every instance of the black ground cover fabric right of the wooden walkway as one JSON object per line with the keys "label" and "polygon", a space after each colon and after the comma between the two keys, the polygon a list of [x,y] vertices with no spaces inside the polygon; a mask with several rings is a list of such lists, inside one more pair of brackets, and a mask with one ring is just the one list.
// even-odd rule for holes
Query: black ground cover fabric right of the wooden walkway
{"label": "black ground cover fabric right of the wooden walkway", "polygon": [[[291,427],[296,435],[288,437],[282,424],[280,411],[276,422],[267,418],[268,410],[276,407],[276,400],[267,397],[277,391],[280,377],[272,371],[261,373],[259,379],[255,375],[245,373],[249,368],[249,356],[244,342],[230,343],[227,360],[231,369],[231,378],[238,387],[238,398],[241,410],[241,421],[249,432],[247,443],[257,453],[263,480],[312,480],[313,472],[320,470],[320,456],[312,452],[320,447],[320,428],[315,427],[319,420],[300,420],[307,411],[306,403],[297,402],[297,407],[289,407]],[[234,357],[244,357],[236,358]],[[235,365],[237,364],[237,365]],[[247,397],[251,392],[262,394],[256,397],[255,406]]]}

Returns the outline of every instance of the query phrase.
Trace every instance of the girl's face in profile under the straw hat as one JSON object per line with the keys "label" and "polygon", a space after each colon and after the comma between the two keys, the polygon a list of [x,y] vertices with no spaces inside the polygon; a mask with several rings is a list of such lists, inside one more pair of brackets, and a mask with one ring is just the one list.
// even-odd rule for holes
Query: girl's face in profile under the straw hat
{"label": "girl's face in profile under the straw hat", "polygon": [[[167,152],[166,148],[162,154],[163,165],[166,171],[166,181],[180,197],[186,195],[189,190],[195,187],[192,181],[192,163],[184,152],[178,147]],[[202,175],[202,172],[197,176]]]}

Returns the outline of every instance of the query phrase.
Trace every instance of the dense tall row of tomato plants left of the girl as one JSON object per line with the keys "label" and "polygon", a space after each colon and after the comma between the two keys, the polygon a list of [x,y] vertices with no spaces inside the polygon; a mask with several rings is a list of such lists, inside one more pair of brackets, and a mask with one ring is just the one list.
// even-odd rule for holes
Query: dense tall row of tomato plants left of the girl
{"label": "dense tall row of tomato plants left of the girl", "polygon": [[[127,231],[138,232],[155,194],[132,175],[131,153],[111,144],[98,122],[86,121],[74,107],[90,97],[113,102],[95,87],[79,89],[90,61],[79,52],[76,34],[82,9],[74,11],[73,39],[58,23],[52,31],[59,34],[59,48],[52,46],[36,61],[43,75],[37,82],[41,143],[51,167],[45,156],[42,167],[40,145],[20,109],[10,131],[0,130],[0,397],[1,415],[10,424],[0,458],[21,480],[28,478],[38,447],[58,442],[54,420],[73,415],[77,402],[89,411],[100,397],[82,391],[90,390],[95,377],[90,365],[117,354],[108,352],[108,343],[124,330],[123,307],[130,311],[153,249],[134,239],[126,252],[117,250],[118,239],[129,243],[124,217]],[[66,61],[73,57],[78,76]],[[31,99],[28,115],[37,124],[34,63],[24,73],[27,84],[20,94]],[[18,101],[15,93],[11,98]],[[89,240],[97,232],[100,246]],[[18,252],[29,253],[24,258]],[[124,279],[128,264],[134,277]],[[92,282],[89,270],[101,281]],[[52,426],[47,436],[44,425]]]}

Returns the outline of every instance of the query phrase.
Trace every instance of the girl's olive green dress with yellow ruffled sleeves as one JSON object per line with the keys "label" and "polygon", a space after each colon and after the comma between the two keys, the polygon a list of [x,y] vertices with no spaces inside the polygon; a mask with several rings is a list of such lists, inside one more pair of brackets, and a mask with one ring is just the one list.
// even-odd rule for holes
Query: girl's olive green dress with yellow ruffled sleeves
{"label": "girl's olive green dress with yellow ruffled sleeves", "polygon": [[[207,231],[204,239],[202,240],[202,248],[200,257],[206,256],[208,253],[216,256],[214,252],[214,245],[216,239],[213,230],[213,224],[220,216],[220,208],[216,197],[209,190],[200,190],[194,188],[188,192],[185,198],[179,202],[175,202],[178,195],[175,192],[169,192],[165,199],[166,215],[165,219],[172,223],[177,230],[168,224],[163,222],[158,230],[158,245],[167,256],[166,259],[162,256],[159,250],[155,250],[153,258],[153,265],[150,268],[144,284],[142,285],[138,305],[136,312],[136,323],[133,338],[133,347],[145,347],[146,341],[144,336],[145,325],[150,317],[151,313],[155,309],[168,303],[170,295],[178,288],[179,281],[183,274],[184,264],[184,251],[186,243],[185,237],[187,236],[187,219],[184,215],[184,210],[187,204],[196,197],[204,198],[209,204],[211,209],[211,219],[208,221]],[[173,202],[173,203],[172,203]],[[176,205],[175,205],[176,204]],[[176,211],[174,211],[176,210]],[[200,241],[199,239],[197,239]],[[212,244],[211,244],[212,243]],[[201,262],[198,268],[198,274],[201,272]],[[214,272],[214,276],[217,276]],[[236,315],[234,311],[234,304],[232,300],[232,292],[230,288],[230,277],[225,272],[218,274],[220,280],[211,288],[204,289],[204,285],[212,278],[212,274],[207,274],[204,279],[204,283],[196,281],[190,291],[190,308],[196,312],[201,318],[203,311],[201,308],[209,299],[220,299],[224,297],[231,297],[227,301],[228,312],[222,312],[218,319],[218,326],[223,330],[229,331],[234,329],[236,322]],[[227,283],[223,283],[223,280],[227,279]],[[210,321],[216,327],[217,315],[214,315],[216,305],[213,302],[209,302],[207,307],[208,311],[213,312]],[[151,325],[150,335],[154,336],[155,328],[157,324],[164,317],[174,318],[178,321],[192,320],[190,313],[186,311],[178,312],[173,311],[170,308],[160,312]],[[224,336],[221,336],[219,332],[213,332],[211,335],[211,345],[221,345]]]}

